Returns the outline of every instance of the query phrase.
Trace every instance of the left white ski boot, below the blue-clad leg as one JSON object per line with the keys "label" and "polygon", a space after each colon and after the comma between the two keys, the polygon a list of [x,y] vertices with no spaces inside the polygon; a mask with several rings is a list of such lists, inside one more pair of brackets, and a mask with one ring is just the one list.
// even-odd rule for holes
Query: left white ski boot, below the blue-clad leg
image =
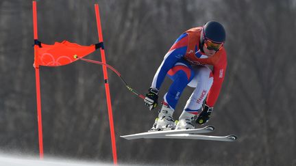
{"label": "left white ski boot, below the blue-clad leg", "polygon": [[175,129],[175,120],[173,120],[173,109],[162,103],[162,108],[158,111],[158,117],[151,130],[173,130]]}

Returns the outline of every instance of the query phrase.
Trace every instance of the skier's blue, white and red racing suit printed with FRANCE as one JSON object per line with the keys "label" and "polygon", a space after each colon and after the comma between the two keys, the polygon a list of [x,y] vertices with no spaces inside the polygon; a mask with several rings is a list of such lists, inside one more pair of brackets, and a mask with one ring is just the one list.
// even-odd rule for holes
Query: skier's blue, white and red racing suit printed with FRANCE
{"label": "skier's blue, white and red racing suit printed with FRANCE", "polygon": [[[198,114],[205,99],[208,106],[214,107],[219,96],[225,77],[227,55],[224,48],[211,57],[205,55],[199,49],[201,29],[202,27],[189,29],[177,38],[153,78],[151,87],[157,89],[160,89],[166,76],[173,80],[169,91],[164,95],[164,102],[171,109],[175,109],[187,85],[195,87],[195,91],[184,111]],[[208,66],[212,66],[212,70]]]}

